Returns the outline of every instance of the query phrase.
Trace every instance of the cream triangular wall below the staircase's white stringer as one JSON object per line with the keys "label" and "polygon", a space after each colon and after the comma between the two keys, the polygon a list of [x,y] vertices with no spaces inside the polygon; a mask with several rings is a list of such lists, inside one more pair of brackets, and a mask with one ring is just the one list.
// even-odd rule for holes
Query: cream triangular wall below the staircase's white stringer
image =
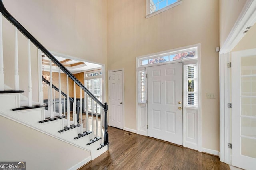
{"label": "cream triangular wall below the staircase's white stringer", "polygon": [[0,161],[26,161],[28,170],[64,170],[90,161],[90,152],[2,116],[0,128]]}

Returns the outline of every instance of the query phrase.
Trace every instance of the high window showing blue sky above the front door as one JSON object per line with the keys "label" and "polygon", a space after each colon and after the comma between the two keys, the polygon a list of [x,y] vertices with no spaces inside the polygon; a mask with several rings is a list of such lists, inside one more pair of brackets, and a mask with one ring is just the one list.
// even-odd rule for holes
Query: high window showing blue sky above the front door
{"label": "high window showing blue sky above the front door", "polygon": [[146,18],[154,16],[182,3],[182,0],[146,0]]}

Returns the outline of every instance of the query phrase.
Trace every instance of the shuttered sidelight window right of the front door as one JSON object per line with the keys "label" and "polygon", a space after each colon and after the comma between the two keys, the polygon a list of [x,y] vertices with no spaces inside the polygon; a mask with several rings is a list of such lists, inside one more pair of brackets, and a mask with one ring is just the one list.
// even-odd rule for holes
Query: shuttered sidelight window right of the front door
{"label": "shuttered sidelight window right of the front door", "polygon": [[198,68],[197,64],[184,66],[185,105],[187,107],[198,106]]}

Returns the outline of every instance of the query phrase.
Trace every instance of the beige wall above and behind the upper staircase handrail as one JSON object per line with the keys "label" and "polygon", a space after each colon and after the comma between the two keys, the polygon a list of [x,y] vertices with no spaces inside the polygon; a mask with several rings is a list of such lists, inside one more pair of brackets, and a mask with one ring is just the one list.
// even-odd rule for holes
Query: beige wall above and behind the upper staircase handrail
{"label": "beige wall above and behind the upper staircase handrail", "polygon": [[[49,51],[106,64],[106,0],[3,0],[6,9]],[[5,83],[14,88],[14,27],[4,22]],[[27,39],[19,33],[20,89],[28,96]],[[38,100],[37,48],[32,45],[33,100]]]}

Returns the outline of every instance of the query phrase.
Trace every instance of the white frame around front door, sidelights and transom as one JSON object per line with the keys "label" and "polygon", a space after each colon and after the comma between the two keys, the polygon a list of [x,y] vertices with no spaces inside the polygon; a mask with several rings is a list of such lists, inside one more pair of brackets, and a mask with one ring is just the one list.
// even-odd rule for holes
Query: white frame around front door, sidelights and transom
{"label": "white frame around front door, sidelights and transom", "polygon": [[[164,64],[171,64],[171,63],[156,63],[156,64],[152,64],[152,65],[144,65],[144,66],[140,66],[140,60],[141,59],[147,59],[148,57],[153,57],[153,56],[159,56],[159,55],[165,55],[166,53],[171,53],[171,52],[176,52],[176,51],[183,51],[183,50],[187,50],[187,49],[192,49],[192,48],[197,48],[197,59],[191,59],[191,60],[178,60],[178,61],[172,61],[171,63],[179,63],[182,62],[182,70],[184,71],[184,63],[190,63],[190,62],[196,62],[198,64],[198,110],[197,110],[197,121],[198,121],[198,125],[197,125],[197,131],[196,133],[198,134],[197,136],[197,143],[188,143],[187,140],[184,139],[184,134],[186,134],[186,125],[185,123],[183,123],[183,146],[187,147],[187,148],[191,148],[194,150],[198,150],[199,152],[206,152],[206,153],[210,153],[210,154],[214,154],[217,155],[215,151],[212,151],[210,149],[205,149],[202,148],[202,115],[201,115],[201,101],[202,101],[202,88],[201,88],[201,44],[194,44],[194,45],[188,45],[185,47],[179,47],[176,49],[170,49],[167,51],[161,51],[161,52],[157,52],[157,53],[152,53],[149,55],[143,55],[140,57],[136,57],[136,133],[140,134],[140,135],[144,135],[144,136],[148,136],[148,130],[146,125],[148,124],[148,104],[146,102],[144,103],[140,103],[139,99],[138,99],[138,93],[139,93],[139,82],[138,82],[138,77],[139,77],[139,72],[140,71],[145,71],[145,74],[147,74],[147,67],[148,66],[156,66],[156,65],[164,65]],[[182,83],[184,86],[184,75],[182,74],[183,78],[182,78]],[[145,86],[147,86],[147,84],[145,84]],[[184,101],[184,88],[182,87],[182,92],[183,92],[183,101]],[[147,89],[145,90],[145,99],[147,99]],[[183,102],[184,104],[184,102]],[[183,105],[183,122],[185,119],[184,116],[184,105]],[[144,120],[145,121],[142,121]],[[187,142],[185,145],[184,143]],[[194,147],[193,147],[194,146]]]}

